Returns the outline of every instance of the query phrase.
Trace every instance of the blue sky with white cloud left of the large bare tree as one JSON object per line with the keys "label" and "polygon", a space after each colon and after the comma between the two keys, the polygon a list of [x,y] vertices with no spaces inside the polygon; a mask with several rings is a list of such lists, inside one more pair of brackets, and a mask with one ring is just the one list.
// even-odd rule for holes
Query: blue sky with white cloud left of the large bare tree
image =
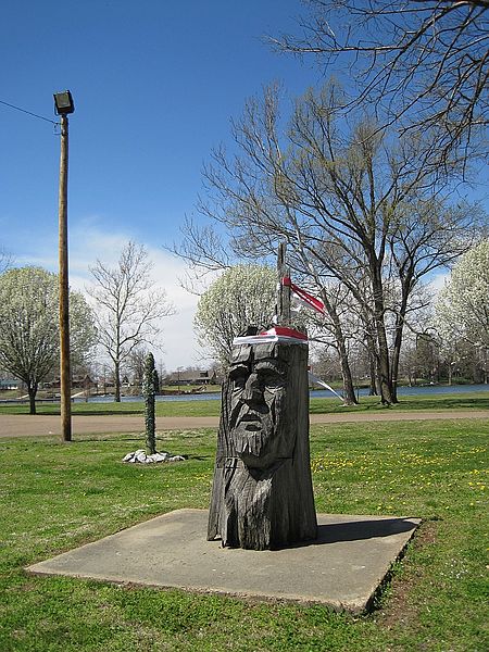
{"label": "blue sky with white cloud left of the large bare tree", "polygon": [[[70,273],[83,289],[99,258],[145,244],[177,314],[163,323],[168,369],[199,364],[196,297],[164,249],[195,214],[202,164],[230,141],[247,97],[279,80],[290,98],[324,82],[311,60],[275,53],[265,34],[297,32],[299,0],[7,0],[0,101],[55,120],[71,89]],[[58,267],[59,135],[0,104],[0,246],[16,265]]]}

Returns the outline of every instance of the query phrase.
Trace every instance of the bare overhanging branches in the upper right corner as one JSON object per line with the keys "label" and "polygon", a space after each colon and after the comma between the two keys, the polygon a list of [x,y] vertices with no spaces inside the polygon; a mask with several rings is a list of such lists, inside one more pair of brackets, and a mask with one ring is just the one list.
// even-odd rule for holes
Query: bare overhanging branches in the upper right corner
{"label": "bare overhanging branches in the upper right corner", "polygon": [[[430,163],[450,167],[479,148],[489,121],[488,0],[309,0],[301,34],[272,41],[347,65],[343,108],[374,105],[383,126],[437,134]],[[487,151],[482,152],[487,155]]]}

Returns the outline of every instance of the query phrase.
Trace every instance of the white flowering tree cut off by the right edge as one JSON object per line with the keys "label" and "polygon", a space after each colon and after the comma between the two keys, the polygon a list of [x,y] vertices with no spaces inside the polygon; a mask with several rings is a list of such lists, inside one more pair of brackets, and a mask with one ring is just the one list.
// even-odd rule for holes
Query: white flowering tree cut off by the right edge
{"label": "white flowering tree cut off by the right edge", "polygon": [[444,347],[457,340],[479,352],[487,381],[489,351],[489,239],[465,253],[453,267],[436,304],[436,325]]}

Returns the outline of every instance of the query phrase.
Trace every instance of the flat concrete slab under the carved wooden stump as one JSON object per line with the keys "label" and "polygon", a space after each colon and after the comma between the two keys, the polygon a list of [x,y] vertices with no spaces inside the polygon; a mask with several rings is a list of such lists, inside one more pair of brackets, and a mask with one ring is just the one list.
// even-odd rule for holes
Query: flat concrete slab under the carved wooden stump
{"label": "flat concrete slab under the carved wooden stump", "polygon": [[176,587],[363,612],[417,518],[318,514],[315,541],[281,550],[206,541],[208,512],[177,510],[27,568],[114,582]]}

